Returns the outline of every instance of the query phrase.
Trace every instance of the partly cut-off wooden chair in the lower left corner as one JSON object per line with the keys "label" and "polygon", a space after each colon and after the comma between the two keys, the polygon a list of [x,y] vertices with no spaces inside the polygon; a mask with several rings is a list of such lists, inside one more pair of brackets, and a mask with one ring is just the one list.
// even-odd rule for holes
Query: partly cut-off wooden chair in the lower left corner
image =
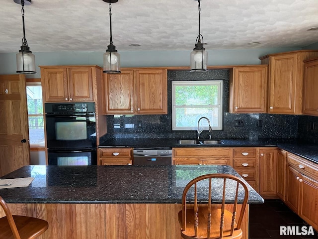
{"label": "partly cut-off wooden chair in the lower left corner", "polygon": [[0,239],[33,239],[43,234],[49,227],[48,222],[42,219],[12,216],[2,197],[0,205],[6,215],[0,218]]}

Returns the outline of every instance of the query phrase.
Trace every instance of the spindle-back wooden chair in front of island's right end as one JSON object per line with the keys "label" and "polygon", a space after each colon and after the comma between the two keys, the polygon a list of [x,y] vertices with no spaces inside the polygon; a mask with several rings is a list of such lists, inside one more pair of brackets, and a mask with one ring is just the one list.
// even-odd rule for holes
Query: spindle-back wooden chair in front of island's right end
{"label": "spindle-back wooden chair in front of island's right end", "polygon": [[[206,184],[202,184],[204,182],[206,182]],[[191,204],[187,204],[186,201],[189,200],[189,198],[187,198],[187,193],[189,189],[193,187],[194,193],[191,191],[191,194],[194,195],[193,197],[191,196]],[[212,187],[218,189],[218,193],[222,194],[221,208],[219,207],[218,209],[216,209],[212,206]],[[208,190],[208,193],[206,192],[206,201],[208,203],[200,203],[198,206],[198,188],[205,188],[206,191]],[[221,192],[219,192],[219,190],[221,190]],[[242,203],[242,205],[238,221],[236,222],[239,191],[244,192],[244,198],[243,201],[240,202]],[[229,199],[229,197],[231,198],[230,204],[234,205],[233,212],[225,209],[226,197],[227,199]],[[200,200],[202,201],[202,199]],[[184,239],[242,238],[242,230],[240,229],[240,226],[242,223],[247,200],[248,189],[245,183],[243,183],[236,176],[228,174],[207,174],[193,179],[185,186],[183,190],[182,210],[178,213],[178,220],[181,227],[181,237]]]}

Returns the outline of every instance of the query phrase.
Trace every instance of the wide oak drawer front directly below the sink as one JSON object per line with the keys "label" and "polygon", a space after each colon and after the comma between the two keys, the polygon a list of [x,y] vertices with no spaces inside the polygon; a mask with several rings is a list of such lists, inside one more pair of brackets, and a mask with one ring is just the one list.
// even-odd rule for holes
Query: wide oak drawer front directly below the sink
{"label": "wide oak drawer front directly below the sink", "polygon": [[173,148],[174,157],[231,157],[231,148]]}

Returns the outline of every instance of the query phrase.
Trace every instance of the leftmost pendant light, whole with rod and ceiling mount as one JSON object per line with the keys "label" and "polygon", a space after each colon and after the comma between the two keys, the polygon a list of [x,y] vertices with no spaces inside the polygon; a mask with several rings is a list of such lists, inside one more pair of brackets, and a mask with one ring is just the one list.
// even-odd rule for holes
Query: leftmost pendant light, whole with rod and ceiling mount
{"label": "leftmost pendant light, whole with rod and ceiling mount", "polygon": [[21,44],[21,50],[16,53],[16,73],[19,74],[35,74],[35,56],[28,47],[28,42],[25,38],[25,26],[24,26],[24,3],[25,5],[31,4],[31,0],[14,0],[15,3],[21,4],[22,9],[22,24],[23,24],[23,38]]}

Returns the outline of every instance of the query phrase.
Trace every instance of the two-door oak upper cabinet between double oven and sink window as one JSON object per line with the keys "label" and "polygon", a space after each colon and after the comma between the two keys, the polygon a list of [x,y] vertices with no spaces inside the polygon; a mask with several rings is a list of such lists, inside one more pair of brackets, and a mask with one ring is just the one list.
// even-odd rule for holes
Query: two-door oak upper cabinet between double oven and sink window
{"label": "two-door oak upper cabinet between double oven and sink window", "polygon": [[105,115],[167,114],[167,70],[122,69],[120,74],[104,74]]}

